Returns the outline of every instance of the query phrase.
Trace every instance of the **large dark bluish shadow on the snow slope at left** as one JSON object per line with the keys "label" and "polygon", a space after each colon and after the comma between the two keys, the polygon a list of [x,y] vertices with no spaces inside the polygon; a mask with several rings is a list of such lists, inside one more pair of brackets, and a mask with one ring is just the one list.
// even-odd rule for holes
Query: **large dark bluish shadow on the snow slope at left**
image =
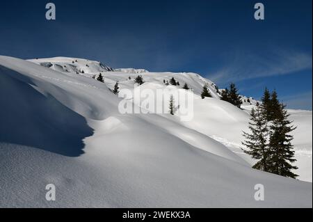
{"label": "large dark bluish shadow on the snow slope at left", "polygon": [[83,154],[83,138],[93,135],[86,119],[29,83],[27,77],[0,66],[0,142],[67,157]]}

